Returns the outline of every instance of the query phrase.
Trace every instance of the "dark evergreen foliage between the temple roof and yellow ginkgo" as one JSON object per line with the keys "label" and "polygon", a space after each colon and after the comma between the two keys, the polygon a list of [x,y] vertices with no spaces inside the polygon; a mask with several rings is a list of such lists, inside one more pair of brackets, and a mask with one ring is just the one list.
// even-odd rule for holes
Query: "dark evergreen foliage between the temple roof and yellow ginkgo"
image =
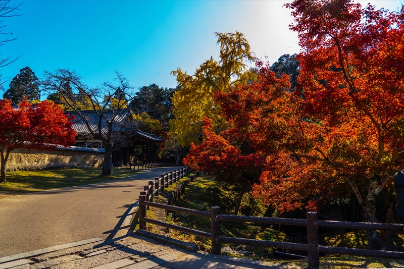
{"label": "dark evergreen foliage between the temple roof and yellow ginkgo", "polygon": [[146,112],[151,118],[159,120],[163,126],[168,126],[171,119],[173,103],[171,97],[175,89],[162,88],[156,84],[143,86],[136,92],[129,106],[133,113]]}

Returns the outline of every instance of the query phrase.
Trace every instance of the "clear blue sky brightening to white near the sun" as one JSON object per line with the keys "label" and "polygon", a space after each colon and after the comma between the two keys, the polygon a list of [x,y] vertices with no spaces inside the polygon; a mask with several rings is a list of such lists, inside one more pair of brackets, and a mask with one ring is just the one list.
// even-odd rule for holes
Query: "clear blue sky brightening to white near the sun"
{"label": "clear blue sky brightening to white near the sun", "polygon": [[[218,59],[214,32],[242,32],[256,56],[270,63],[299,52],[286,1],[11,1],[21,2],[24,15],[5,19],[18,39],[1,54],[23,55],[0,70],[9,80],[28,66],[38,78],[44,70],[75,69],[92,86],[112,80],[117,70],[135,87],[175,87],[172,70],[193,73],[211,56]],[[403,3],[359,2],[390,11]]]}

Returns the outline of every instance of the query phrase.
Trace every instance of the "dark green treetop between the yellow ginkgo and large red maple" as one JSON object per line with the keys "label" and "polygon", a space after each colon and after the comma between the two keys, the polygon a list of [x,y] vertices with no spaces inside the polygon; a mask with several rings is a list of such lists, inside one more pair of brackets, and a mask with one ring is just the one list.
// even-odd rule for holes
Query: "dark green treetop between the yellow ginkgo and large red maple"
{"label": "dark green treetop between the yellow ginkgo and large red maple", "polygon": [[291,89],[296,89],[297,76],[299,75],[300,64],[296,60],[296,53],[293,55],[284,54],[279,57],[278,61],[273,63],[271,71],[275,72],[275,76],[280,79],[283,74],[290,76]]}

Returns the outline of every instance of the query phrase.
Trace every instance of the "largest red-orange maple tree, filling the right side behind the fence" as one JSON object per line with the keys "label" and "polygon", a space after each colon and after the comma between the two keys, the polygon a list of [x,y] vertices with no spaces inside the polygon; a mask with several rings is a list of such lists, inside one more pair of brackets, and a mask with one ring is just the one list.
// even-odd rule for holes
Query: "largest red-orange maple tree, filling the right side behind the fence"
{"label": "largest red-orange maple tree, filling the right side behind the fence", "polygon": [[[216,93],[239,136],[267,155],[253,194],[282,211],[318,210],[351,192],[377,222],[376,195],[393,221],[392,176],[404,167],[404,7],[388,13],[347,0],[296,0],[299,87],[268,67],[251,85]],[[377,246],[374,232],[369,243]],[[371,242],[372,241],[372,242]]]}

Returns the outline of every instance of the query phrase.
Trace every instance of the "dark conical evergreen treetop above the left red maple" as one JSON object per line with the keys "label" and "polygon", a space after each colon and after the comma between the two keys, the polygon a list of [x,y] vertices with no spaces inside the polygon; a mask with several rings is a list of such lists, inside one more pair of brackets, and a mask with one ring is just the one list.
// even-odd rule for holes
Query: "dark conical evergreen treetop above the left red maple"
{"label": "dark conical evergreen treetop above the left red maple", "polygon": [[3,98],[17,104],[24,100],[39,100],[41,93],[38,88],[38,78],[29,67],[20,69],[20,73],[10,82],[9,89],[3,94]]}

